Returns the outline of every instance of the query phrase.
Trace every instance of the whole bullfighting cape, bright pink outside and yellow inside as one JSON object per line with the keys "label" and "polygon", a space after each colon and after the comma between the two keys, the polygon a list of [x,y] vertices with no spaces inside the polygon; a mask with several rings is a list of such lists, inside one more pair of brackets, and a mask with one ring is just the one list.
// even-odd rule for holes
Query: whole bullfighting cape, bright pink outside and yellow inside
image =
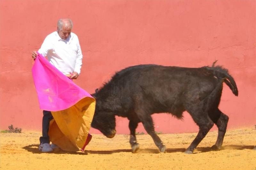
{"label": "whole bullfighting cape, bright pink outside and yellow inside", "polygon": [[[37,52],[38,53],[38,52]],[[38,53],[32,67],[40,109],[52,112],[50,141],[64,151],[84,151],[95,110],[95,99]]]}

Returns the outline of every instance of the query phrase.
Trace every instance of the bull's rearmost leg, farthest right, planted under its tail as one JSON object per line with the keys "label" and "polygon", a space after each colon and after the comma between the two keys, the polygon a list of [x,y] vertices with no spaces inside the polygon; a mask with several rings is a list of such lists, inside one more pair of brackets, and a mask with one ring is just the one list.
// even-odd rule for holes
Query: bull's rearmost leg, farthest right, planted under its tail
{"label": "bull's rearmost leg, farthest right, planted under its tail", "polygon": [[[220,111],[219,111],[220,112]],[[220,112],[220,118],[215,122],[218,127],[218,138],[215,145],[212,146],[213,150],[220,149],[223,139],[227,130],[228,116]]]}

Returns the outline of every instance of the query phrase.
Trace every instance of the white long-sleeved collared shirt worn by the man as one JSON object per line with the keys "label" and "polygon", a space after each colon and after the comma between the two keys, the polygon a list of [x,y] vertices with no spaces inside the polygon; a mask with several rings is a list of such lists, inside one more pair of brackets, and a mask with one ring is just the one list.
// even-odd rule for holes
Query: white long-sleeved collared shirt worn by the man
{"label": "white long-sleeved collared shirt worn by the man", "polygon": [[47,60],[64,75],[74,71],[80,74],[83,55],[75,33],[70,33],[66,40],[61,39],[57,31],[47,35],[38,52],[47,56]]}

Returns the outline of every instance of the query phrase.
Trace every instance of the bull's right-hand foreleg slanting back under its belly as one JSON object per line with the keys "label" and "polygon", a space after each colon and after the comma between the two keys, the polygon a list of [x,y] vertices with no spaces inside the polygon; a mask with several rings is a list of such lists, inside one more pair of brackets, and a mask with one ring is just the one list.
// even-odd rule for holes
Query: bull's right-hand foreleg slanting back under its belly
{"label": "bull's right-hand foreleg slanting back under its belly", "polygon": [[140,115],[140,120],[147,131],[147,133],[153,138],[156,146],[159,148],[160,152],[165,152],[166,147],[163,145],[161,139],[157,136],[153,124],[153,120],[150,115]]}

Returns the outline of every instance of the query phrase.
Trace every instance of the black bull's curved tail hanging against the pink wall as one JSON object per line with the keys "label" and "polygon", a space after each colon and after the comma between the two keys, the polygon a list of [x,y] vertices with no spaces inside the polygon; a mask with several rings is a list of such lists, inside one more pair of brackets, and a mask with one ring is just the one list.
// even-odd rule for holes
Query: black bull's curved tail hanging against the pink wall
{"label": "black bull's curved tail hanging against the pink wall", "polygon": [[238,96],[238,89],[234,78],[228,73],[227,69],[224,69],[220,66],[214,66],[215,63],[216,61],[213,63],[212,67],[208,68],[213,71],[213,75],[215,77],[221,79],[224,83],[226,83],[226,85],[228,85],[233,94]]}

